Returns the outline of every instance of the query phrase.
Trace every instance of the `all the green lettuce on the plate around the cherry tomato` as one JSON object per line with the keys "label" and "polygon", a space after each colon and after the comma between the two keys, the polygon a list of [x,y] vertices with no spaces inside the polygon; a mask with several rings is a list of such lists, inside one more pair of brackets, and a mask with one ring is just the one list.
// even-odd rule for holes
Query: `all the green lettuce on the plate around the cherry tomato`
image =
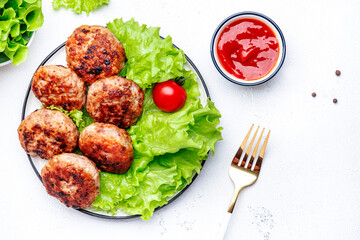
{"label": "all the green lettuce on the plate around the cherry tomato", "polygon": [[[159,28],[140,26],[133,19],[116,19],[107,27],[122,41],[129,59],[121,74],[144,89],[145,100],[142,116],[127,130],[134,162],[125,174],[100,173],[100,194],[92,206],[148,220],[191,183],[209,151],[214,152],[222,139],[221,115],[210,100],[201,104],[196,75],[183,68],[183,51],[173,47],[170,37],[161,39]],[[176,76],[188,77],[183,85],[187,100],[179,111],[166,113],[155,106],[152,86]]]}

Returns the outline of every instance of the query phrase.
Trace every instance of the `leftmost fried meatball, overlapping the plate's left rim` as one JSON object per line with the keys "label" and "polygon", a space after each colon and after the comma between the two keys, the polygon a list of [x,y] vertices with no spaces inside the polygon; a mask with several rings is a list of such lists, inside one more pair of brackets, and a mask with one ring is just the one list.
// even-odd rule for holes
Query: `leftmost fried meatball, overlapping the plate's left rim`
{"label": "leftmost fried meatball, overlapping the plate's left rim", "polygon": [[72,152],[79,137],[70,117],[57,110],[38,109],[27,116],[18,128],[22,148],[31,156],[49,159]]}

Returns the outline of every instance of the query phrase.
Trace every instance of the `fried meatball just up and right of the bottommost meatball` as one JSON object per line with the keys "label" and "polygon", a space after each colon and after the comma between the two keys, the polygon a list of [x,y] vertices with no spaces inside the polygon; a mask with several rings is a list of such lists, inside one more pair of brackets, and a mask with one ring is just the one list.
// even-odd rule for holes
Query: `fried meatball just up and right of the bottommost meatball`
{"label": "fried meatball just up and right of the bottommost meatball", "polygon": [[130,135],[109,123],[93,123],[79,137],[82,153],[105,172],[125,173],[134,159]]}

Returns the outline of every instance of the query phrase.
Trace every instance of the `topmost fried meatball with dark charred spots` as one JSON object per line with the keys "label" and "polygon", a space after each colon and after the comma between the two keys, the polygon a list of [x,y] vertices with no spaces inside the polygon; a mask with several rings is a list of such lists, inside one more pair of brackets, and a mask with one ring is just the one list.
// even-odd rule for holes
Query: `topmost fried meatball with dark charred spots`
{"label": "topmost fried meatball with dark charred spots", "polygon": [[83,25],[66,42],[66,61],[86,83],[118,74],[126,63],[122,43],[107,28]]}

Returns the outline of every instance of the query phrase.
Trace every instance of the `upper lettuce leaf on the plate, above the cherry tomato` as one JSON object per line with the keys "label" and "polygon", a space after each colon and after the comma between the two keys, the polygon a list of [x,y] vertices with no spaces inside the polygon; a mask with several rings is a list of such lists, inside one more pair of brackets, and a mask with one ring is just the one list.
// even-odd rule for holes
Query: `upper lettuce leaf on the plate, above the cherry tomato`
{"label": "upper lettuce leaf on the plate, above the cherry tomato", "polygon": [[134,19],[115,19],[107,24],[124,45],[128,61],[120,75],[134,80],[143,89],[152,84],[186,75],[184,52],[173,47],[172,39],[161,39],[160,28],[139,25]]}

